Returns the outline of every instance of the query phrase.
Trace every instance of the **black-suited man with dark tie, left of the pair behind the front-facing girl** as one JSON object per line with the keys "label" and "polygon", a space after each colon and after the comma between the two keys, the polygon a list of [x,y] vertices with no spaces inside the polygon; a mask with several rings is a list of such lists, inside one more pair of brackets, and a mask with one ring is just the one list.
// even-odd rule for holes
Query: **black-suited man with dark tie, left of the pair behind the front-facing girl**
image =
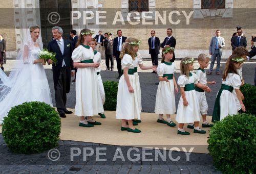
{"label": "black-suited man with dark tie, left of the pair behind the front-facing girl", "polygon": [[[150,48],[150,55],[152,64],[158,66],[158,55],[160,54],[160,40],[156,37],[156,32],[154,30],[151,31],[151,37],[148,39],[148,47]],[[155,71],[153,71],[155,72]]]}

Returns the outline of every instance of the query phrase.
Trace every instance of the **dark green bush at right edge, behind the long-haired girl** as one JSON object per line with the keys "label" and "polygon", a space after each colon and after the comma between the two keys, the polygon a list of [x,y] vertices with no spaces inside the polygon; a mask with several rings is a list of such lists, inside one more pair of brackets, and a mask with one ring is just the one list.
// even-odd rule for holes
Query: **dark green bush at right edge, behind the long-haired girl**
{"label": "dark green bush at right edge, behind the long-haired girl", "polygon": [[256,87],[251,84],[244,84],[240,90],[244,95],[245,113],[256,115]]}

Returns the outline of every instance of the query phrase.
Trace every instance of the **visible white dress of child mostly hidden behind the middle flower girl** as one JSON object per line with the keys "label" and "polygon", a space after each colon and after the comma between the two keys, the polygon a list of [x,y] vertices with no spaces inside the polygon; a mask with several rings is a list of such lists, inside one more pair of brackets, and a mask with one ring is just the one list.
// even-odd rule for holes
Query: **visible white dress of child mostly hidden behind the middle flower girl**
{"label": "visible white dress of child mostly hidden behind the middle flower girl", "polygon": [[134,65],[134,78],[135,78],[135,89],[136,89],[136,94],[137,94],[137,100],[138,100],[138,105],[139,105],[139,111],[141,112],[142,107],[141,107],[141,90],[140,90],[140,78],[139,74],[137,72],[138,65],[142,64],[142,57],[139,52],[137,52],[137,57],[135,60],[133,60],[133,65]]}

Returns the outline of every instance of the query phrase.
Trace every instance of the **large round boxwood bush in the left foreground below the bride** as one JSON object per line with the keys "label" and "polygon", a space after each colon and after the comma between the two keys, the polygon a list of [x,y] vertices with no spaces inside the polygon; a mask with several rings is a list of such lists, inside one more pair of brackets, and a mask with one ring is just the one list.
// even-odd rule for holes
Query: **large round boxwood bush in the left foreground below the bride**
{"label": "large round boxwood bush in the left foreground below the bride", "polygon": [[60,117],[50,105],[26,102],[11,108],[2,133],[13,153],[34,154],[57,145],[60,127]]}

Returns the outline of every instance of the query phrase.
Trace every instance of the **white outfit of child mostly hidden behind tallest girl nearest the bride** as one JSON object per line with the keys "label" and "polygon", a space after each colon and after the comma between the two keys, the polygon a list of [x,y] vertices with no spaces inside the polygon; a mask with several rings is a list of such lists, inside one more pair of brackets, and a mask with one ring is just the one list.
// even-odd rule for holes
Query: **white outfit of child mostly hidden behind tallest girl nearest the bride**
{"label": "white outfit of child mostly hidden behind tallest girl nearest the bride", "polygon": [[[97,52],[96,50],[93,53],[94,53],[93,62],[100,63],[100,61],[101,61],[100,53]],[[100,70],[101,70],[100,66],[96,68],[99,93],[100,93],[100,97],[101,97],[101,100],[102,100],[102,104],[104,105],[104,103],[105,103],[105,91],[104,91],[104,86],[103,86],[102,79],[101,79],[101,76],[100,76]]]}

